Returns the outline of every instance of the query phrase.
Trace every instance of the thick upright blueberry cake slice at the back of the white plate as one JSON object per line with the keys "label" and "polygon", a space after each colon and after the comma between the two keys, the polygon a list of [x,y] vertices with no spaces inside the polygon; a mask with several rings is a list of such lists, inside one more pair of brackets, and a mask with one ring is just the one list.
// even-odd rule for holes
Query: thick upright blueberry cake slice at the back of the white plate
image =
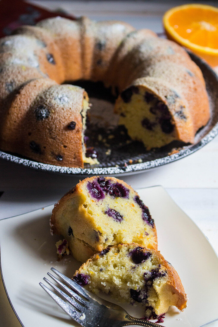
{"label": "thick upright blueberry cake slice at the back of the white plate", "polygon": [[[132,187],[113,177],[80,181],[55,204],[50,225],[51,233],[63,235],[65,245],[82,262],[108,245],[138,243],[157,249],[148,207]],[[61,246],[60,254],[62,250]]]}

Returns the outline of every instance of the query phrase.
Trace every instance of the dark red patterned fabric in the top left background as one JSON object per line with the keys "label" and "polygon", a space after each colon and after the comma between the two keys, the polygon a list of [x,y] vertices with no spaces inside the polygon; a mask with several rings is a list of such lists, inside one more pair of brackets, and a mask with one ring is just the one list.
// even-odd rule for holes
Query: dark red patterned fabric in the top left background
{"label": "dark red patterned fabric in the top left background", "polygon": [[42,19],[61,16],[75,19],[74,16],[62,12],[49,11],[44,8],[26,3],[23,0],[0,1],[0,38],[10,35],[21,25],[35,25]]}

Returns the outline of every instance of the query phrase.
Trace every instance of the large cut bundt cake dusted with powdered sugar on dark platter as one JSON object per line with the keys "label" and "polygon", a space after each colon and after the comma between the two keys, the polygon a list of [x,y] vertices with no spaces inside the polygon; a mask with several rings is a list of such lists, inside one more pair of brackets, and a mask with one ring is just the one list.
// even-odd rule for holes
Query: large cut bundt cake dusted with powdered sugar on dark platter
{"label": "large cut bundt cake dusted with powdered sugar on dark platter", "polygon": [[[56,17],[0,40],[0,148],[39,162],[83,167],[89,109],[65,81],[102,81],[115,112],[147,149],[193,142],[209,120],[205,82],[179,45],[129,24]],[[87,158],[88,157],[88,158]]]}

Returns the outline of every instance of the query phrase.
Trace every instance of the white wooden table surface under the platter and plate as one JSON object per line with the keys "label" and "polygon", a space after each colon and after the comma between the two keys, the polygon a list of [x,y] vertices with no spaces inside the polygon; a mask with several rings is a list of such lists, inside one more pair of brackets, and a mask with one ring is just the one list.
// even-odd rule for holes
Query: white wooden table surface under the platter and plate
{"label": "white wooden table surface under the platter and plate", "polygon": [[[136,28],[151,28],[160,33],[163,31],[161,18],[167,9],[194,1],[32,0],[29,2],[51,10],[62,8],[76,16],[87,15],[95,20],[119,19]],[[217,1],[198,1],[198,3],[217,6]],[[4,192],[0,197],[0,219],[55,203],[79,179],[75,176],[35,171],[0,160],[0,192]],[[145,173],[123,176],[121,179],[135,189],[153,185],[165,187],[218,252],[218,137],[177,162]],[[0,327],[20,326],[10,308],[1,281],[0,294]],[[218,323],[213,323],[211,326],[218,326]]]}

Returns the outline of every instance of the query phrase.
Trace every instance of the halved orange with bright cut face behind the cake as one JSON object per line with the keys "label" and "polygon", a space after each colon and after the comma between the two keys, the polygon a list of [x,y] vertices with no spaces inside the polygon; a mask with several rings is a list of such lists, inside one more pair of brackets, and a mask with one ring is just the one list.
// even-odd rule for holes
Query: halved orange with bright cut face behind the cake
{"label": "halved orange with bright cut face behind the cake", "polygon": [[174,7],[163,16],[167,37],[218,66],[218,8],[189,4]]}

